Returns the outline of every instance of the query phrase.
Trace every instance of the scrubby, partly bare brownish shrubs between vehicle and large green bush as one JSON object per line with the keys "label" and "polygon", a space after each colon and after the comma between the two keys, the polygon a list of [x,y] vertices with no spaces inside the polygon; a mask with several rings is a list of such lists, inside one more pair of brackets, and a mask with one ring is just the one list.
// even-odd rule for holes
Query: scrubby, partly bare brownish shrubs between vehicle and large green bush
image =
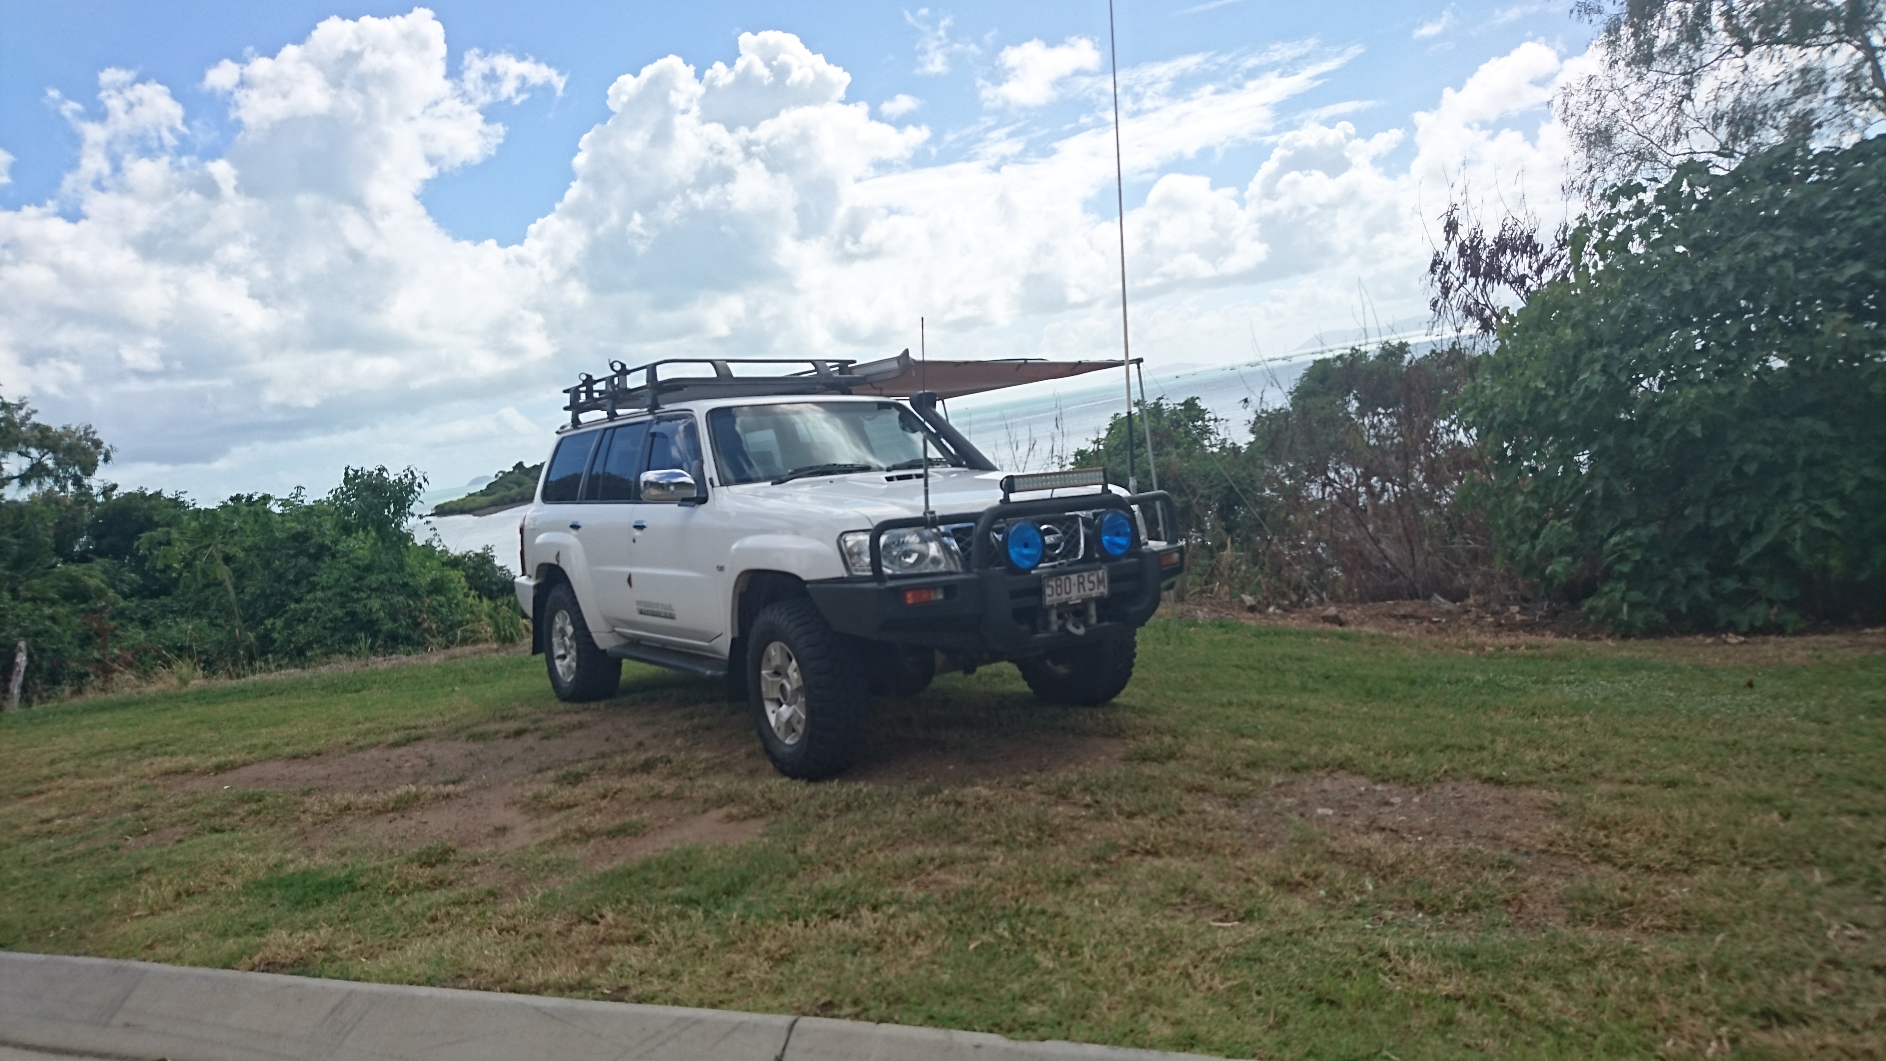
{"label": "scrubby, partly bare brownish shrubs between vehicle and large green bush", "polygon": [[[1414,355],[1403,342],[1318,361],[1286,404],[1254,412],[1247,442],[1196,398],[1145,406],[1158,485],[1198,549],[1194,585],[1307,604],[1486,583],[1486,534],[1458,497],[1475,468],[1456,417],[1471,366],[1462,347]],[[1073,463],[1124,481],[1126,417]]]}

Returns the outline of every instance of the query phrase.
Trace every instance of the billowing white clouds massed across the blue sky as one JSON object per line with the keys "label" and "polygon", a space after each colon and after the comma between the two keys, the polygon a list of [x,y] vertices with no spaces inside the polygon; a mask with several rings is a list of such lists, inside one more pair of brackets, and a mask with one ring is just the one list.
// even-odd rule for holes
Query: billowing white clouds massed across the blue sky
{"label": "billowing white clouds massed across the blue sky", "polygon": [[[1005,62],[1017,106],[1069,76],[1054,70],[1098,64],[1079,42]],[[453,240],[419,196],[498,147],[479,108],[560,76],[468,55],[453,79],[426,11],[330,19],[215,66],[206,83],[238,128],[219,159],[183,153],[162,85],[106,72],[98,108],[66,104],[81,147],[58,208],[0,210],[0,383],[96,423],[121,447],[117,474],[213,493],[287,489],[309,463],[488,472],[532,455],[556,389],[611,357],[869,355],[909,345],[918,315],[952,357],[1115,349],[1098,106],[1047,138],[994,132],[926,164],[928,128],[847,102],[849,74],[798,38],[737,47],[700,74],[668,57],[619,77],[564,198],[511,247]],[[1522,45],[1409,130],[1288,111],[1352,55],[1120,72],[1126,162],[1150,185],[1126,219],[1147,351],[1222,359],[1250,334],[1343,327],[1358,279],[1405,315],[1422,213],[1450,181],[1554,196],[1563,142],[1545,104],[1582,60]],[[1390,168],[1409,140],[1413,162]],[[1267,159],[1243,187],[1188,172],[1258,143]]]}

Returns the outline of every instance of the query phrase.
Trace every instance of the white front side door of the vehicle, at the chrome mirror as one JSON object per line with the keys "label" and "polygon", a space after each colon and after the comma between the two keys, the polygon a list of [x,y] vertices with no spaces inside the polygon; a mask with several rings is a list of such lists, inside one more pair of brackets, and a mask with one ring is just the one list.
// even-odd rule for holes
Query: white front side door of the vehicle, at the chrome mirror
{"label": "white front side door of the vehicle, at the chrome mirror", "polygon": [[[700,434],[692,413],[662,417],[649,429],[645,470],[679,468],[707,489]],[[726,555],[715,555],[722,538],[711,504],[649,502],[634,506],[632,563],[636,576],[630,629],[647,640],[690,648],[722,640],[726,625]],[[722,646],[717,646],[724,649]]]}

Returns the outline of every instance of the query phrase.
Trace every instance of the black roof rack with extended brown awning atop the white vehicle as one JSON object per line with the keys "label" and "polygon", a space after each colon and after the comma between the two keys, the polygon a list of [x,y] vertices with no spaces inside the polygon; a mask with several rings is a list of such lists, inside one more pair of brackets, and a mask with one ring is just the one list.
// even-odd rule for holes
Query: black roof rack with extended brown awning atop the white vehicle
{"label": "black roof rack with extended brown awning atop the white vehicle", "polygon": [[[796,372],[736,376],[736,364],[800,368]],[[713,374],[666,376],[664,370],[670,366],[707,366]],[[583,413],[604,413],[607,419],[615,419],[630,412],[658,410],[664,402],[694,398],[852,393],[907,398],[918,391],[954,398],[1118,366],[1118,361],[1043,361],[1034,357],[920,364],[909,349],[896,357],[866,362],[832,357],[670,357],[630,368],[620,361],[611,361],[607,376],[598,378],[585,372],[575,387],[564,387],[564,395],[570,396],[564,412],[570,413],[570,427],[581,427]]]}

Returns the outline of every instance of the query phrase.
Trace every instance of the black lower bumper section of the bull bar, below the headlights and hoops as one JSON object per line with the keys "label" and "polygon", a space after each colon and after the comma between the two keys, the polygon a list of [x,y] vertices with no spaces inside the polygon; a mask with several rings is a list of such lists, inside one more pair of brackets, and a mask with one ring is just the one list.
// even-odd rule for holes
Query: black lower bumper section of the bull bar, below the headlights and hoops
{"label": "black lower bumper section of the bull bar, below the headlights and hoops", "polygon": [[[1147,546],[1118,561],[1081,563],[1045,574],[1101,566],[1107,568],[1107,597],[1094,602],[1098,623],[1079,634],[1043,621],[1043,572],[1015,574],[998,566],[892,580],[841,578],[807,581],[805,593],[832,629],[845,634],[934,648],[966,659],[1015,659],[1143,627],[1160,606],[1164,583],[1184,572],[1184,546]],[[941,591],[939,598],[907,602],[909,591],[924,589]]]}

